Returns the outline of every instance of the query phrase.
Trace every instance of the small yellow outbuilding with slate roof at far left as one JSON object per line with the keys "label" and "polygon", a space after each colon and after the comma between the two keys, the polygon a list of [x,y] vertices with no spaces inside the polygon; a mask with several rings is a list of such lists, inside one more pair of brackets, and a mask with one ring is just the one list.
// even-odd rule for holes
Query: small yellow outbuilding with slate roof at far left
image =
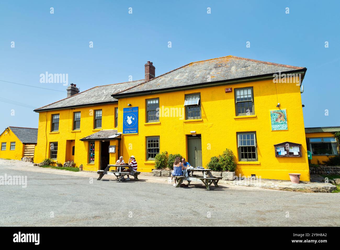
{"label": "small yellow outbuilding with slate roof at far left", "polygon": [[0,158],[21,160],[33,157],[38,129],[7,127],[0,135]]}

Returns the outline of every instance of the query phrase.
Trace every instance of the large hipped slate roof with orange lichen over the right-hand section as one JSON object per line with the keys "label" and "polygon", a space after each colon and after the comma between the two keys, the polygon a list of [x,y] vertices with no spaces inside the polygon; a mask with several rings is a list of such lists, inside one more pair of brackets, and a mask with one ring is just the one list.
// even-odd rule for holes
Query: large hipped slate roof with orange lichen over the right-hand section
{"label": "large hipped slate roof with orange lichen over the right-hand section", "polygon": [[[113,97],[131,95],[138,92],[165,90],[183,86],[200,85],[233,79],[270,75],[277,72],[306,71],[304,67],[269,63],[237,56],[224,56],[215,59],[189,63],[147,82],[141,82],[125,91],[113,93]],[[210,81],[208,80],[210,76]]]}

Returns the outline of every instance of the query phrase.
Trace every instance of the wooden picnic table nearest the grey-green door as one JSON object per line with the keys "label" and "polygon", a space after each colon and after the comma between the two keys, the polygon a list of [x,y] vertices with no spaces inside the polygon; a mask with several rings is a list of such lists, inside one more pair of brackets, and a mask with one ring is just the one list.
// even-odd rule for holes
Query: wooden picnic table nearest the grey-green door
{"label": "wooden picnic table nearest the grey-green door", "polygon": [[[215,177],[211,173],[211,169],[207,168],[192,168],[187,169],[188,171],[188,177],[184,175],[185,171],[183,172],[182,176],[174,176],[177,181],[176,187],[180,187],[183,181],[188,181],[188,185],[190,185],[191,181],[202,181],[207,190],[210,190],[210,185],[214,184],[215,187],[218,187],[218,181],[222,179],[222,177]],[[197,174],[194,174],[194,172],[200,172],[203,174],[202,176],[199,176]]]}

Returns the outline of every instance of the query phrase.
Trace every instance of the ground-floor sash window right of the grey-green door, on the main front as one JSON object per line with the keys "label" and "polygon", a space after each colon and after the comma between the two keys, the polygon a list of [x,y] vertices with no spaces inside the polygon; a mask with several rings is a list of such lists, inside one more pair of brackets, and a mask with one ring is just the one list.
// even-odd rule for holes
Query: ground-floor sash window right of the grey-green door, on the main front
{"label": "ground-floor sash window right of the grey-green door, on the main front", "polygon": [[256,133],[237,133],[239,161],[257,161]]}

